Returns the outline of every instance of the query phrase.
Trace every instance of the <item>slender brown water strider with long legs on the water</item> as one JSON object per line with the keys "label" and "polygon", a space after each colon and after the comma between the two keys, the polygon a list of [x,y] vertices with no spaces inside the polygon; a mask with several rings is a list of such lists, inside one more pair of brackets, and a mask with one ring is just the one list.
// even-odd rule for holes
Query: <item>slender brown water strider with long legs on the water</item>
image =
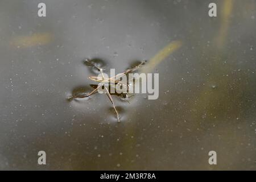
{"label": "slender brown water strider with long legs on the water", "polygon": [[97,88],[95,88],[92,92],[90,92],[89,94],[86,94],[86,95],[80,95],[80,96],[71,96],[70,98],[85,98],[85,97],[89,97],[91,96],[92,94],[94,93],[97,93],[98,92],[98,88],[100,88],[100,86],[102,86],[102,84],[104,84],[104,90],[105,90],[105,93],[106,95],[108,96],[109,100],[111,101],[113,107],[114,107],[114,110],[115,110],[115,113],[117,114],[117,120],[118,122],[120,122],[120,117],[119,117],[119,114],[118,114],[118,111],[115,107],[115,104],[114,104],[114,100],[111,96],[111,94],[109,93],[109,89],[108,87],[109,86],[115,86],[117,84],[120,84],[122,85],[123,88],[129,90],[130,88],[130,85],[127,84],[127,82],[122,82],[120,80],[121,77],[123,76],[126,76],[128,73],[131,73],[133,71],[135,71],[136,69],[138,69],[139,67],[141,67],[141,65],[145,64],[146,61],[142,61],[142,63],[138,64],[137,66],[133,67],[133,68],[130,68],[130,69],[126,69],[126,71],[122,72],[122,73],[119,73],[117,75],[115,75],[114,77],[110,77],[110,78],[107,78],[104,76],[104,72],[103,72],[103,69],[98,67],[95,63],[93,62],[90,62],[88,59],[85,60],[85,64],[90,66],[90,67],[94,67],[96,69],[98,69],[98,71],[100,71],[101,73],[101,76],[90,76],[89,79],[92,80],[92,81],[96,81],[96,82],[100,82],[101,84],[98,84],[97,85]]}

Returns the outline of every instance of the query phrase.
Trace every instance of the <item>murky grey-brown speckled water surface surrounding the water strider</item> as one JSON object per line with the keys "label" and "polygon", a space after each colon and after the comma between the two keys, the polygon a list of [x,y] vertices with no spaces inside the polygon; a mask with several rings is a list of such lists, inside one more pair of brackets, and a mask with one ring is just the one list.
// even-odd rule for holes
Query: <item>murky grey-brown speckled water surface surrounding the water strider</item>
{"label": "murky grey-brown speckled water surface surrounding the water strider", "polygon": [[[255,1],[45,2],[0,2],[0,169],[256,169]],[[158,100],[113,96],[121,123],[105,94],[68,100],[85,59],[122,72],[176,40]]]}

